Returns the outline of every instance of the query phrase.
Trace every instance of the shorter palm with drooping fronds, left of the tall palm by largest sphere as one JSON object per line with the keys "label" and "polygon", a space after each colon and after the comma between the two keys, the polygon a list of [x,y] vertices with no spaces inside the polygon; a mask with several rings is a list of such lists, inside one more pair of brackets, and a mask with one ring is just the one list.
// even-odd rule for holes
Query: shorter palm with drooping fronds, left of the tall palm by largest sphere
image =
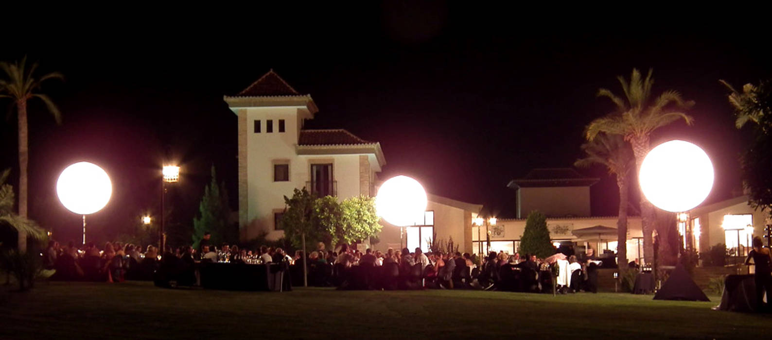
{"label": "shorter palm with drooping fronds, left of the tall palm by largest sphere", "polygon": [[627,209],[629,175],[635,166],[635,158],[632,155],[630,144],[625,142],[621,135],[607,135],[601,133],[589,143],[581,145],[581,150],[587,154],[574,165],[577,167],[591,167],[601,164],[608,168],[608,173],[617,178],[619,188],[619,217],[617,219],[617,264],[619,272],[627,270]]}

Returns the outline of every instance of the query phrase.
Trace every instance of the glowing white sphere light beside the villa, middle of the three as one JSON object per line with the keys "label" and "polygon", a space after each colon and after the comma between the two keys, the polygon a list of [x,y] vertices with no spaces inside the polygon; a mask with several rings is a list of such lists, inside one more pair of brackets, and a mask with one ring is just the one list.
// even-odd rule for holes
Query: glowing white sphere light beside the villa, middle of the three
{"label": "glowing white sphere light beside the villa, middle of the three", "polygon": [[375,210],[378,216],[398,227],[415,225],[424,220],[426,191],[418,180],[407,176],[391,177],[378,189]]}

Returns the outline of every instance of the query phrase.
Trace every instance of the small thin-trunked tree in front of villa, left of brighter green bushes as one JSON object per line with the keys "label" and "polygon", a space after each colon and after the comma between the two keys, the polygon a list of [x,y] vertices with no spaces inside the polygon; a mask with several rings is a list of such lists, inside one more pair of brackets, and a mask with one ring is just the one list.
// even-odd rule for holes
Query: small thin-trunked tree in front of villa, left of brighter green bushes
{"label": "small thin-trunked tree in front of villa, left of brighter green bushes", "polygon": [[284,230],[284,237],[296,246],[303,247],[303,286],[308,286],[308,273],[306,268],[306,235],[318,236],[320,224],[314,223],[314,207],[317,197],[303,187],[303,190],[293,190],[292,198],[284,197],[286,210],[279,222]]}

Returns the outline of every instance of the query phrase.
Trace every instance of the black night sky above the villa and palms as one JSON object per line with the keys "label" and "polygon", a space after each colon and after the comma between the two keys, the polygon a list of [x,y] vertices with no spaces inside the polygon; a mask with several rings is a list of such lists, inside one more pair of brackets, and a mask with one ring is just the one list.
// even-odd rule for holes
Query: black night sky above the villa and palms
{"label": "black night sky above the villa and palms", "polygon": [[[708,200],[732,197],[743,134],[718,79],[741,86],[772,72],[763,22],[730,12],[638,17],[388,2],[59,14],[8,19],[29,29],[4,37],[0,60],[27,55],[66,76],[45,87],[63,125],[34,103],[29,126],[32,217],[63,240],[78,239],[80,217],[59,204],[56,177],[78,160],[113,179],[113,200],[90,217],[97,234],[158,210],[164,154],[184,171],[171,193],[174,219],[191,224],[212,164],[235,209],[236,119],[222,96],[271,68],[319,106],[306,127],[379,141],[388,162],[381,178],[408,174],[434,194],[499,214],[513,204],[509,180],[581,156],[584,126],[612,109],[595,93],[620,93],[615,77],[633,67],[654,69],[655,93],[676,89],[696,101],[694,126],[675,123],[653,140],[703,146],[716,164]],[[15,124],[12,116],[2,129],[0,166],[16,169]],[[615,181],[601,168],[581,171],[602,178],[593,214],[615,214]]]}

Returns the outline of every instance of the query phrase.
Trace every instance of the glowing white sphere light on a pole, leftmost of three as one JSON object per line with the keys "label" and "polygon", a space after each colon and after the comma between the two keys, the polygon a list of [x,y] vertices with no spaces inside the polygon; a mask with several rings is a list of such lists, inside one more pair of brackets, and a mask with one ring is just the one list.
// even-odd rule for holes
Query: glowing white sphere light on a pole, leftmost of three
{"label": "glowing white sphere light on a pole, leftmost of three", "polygon": [[80,162],[67,167],[56,181],[56,195],[67,210],[87,215],[101,210],[113,194],[107,173],[93,163]]}

